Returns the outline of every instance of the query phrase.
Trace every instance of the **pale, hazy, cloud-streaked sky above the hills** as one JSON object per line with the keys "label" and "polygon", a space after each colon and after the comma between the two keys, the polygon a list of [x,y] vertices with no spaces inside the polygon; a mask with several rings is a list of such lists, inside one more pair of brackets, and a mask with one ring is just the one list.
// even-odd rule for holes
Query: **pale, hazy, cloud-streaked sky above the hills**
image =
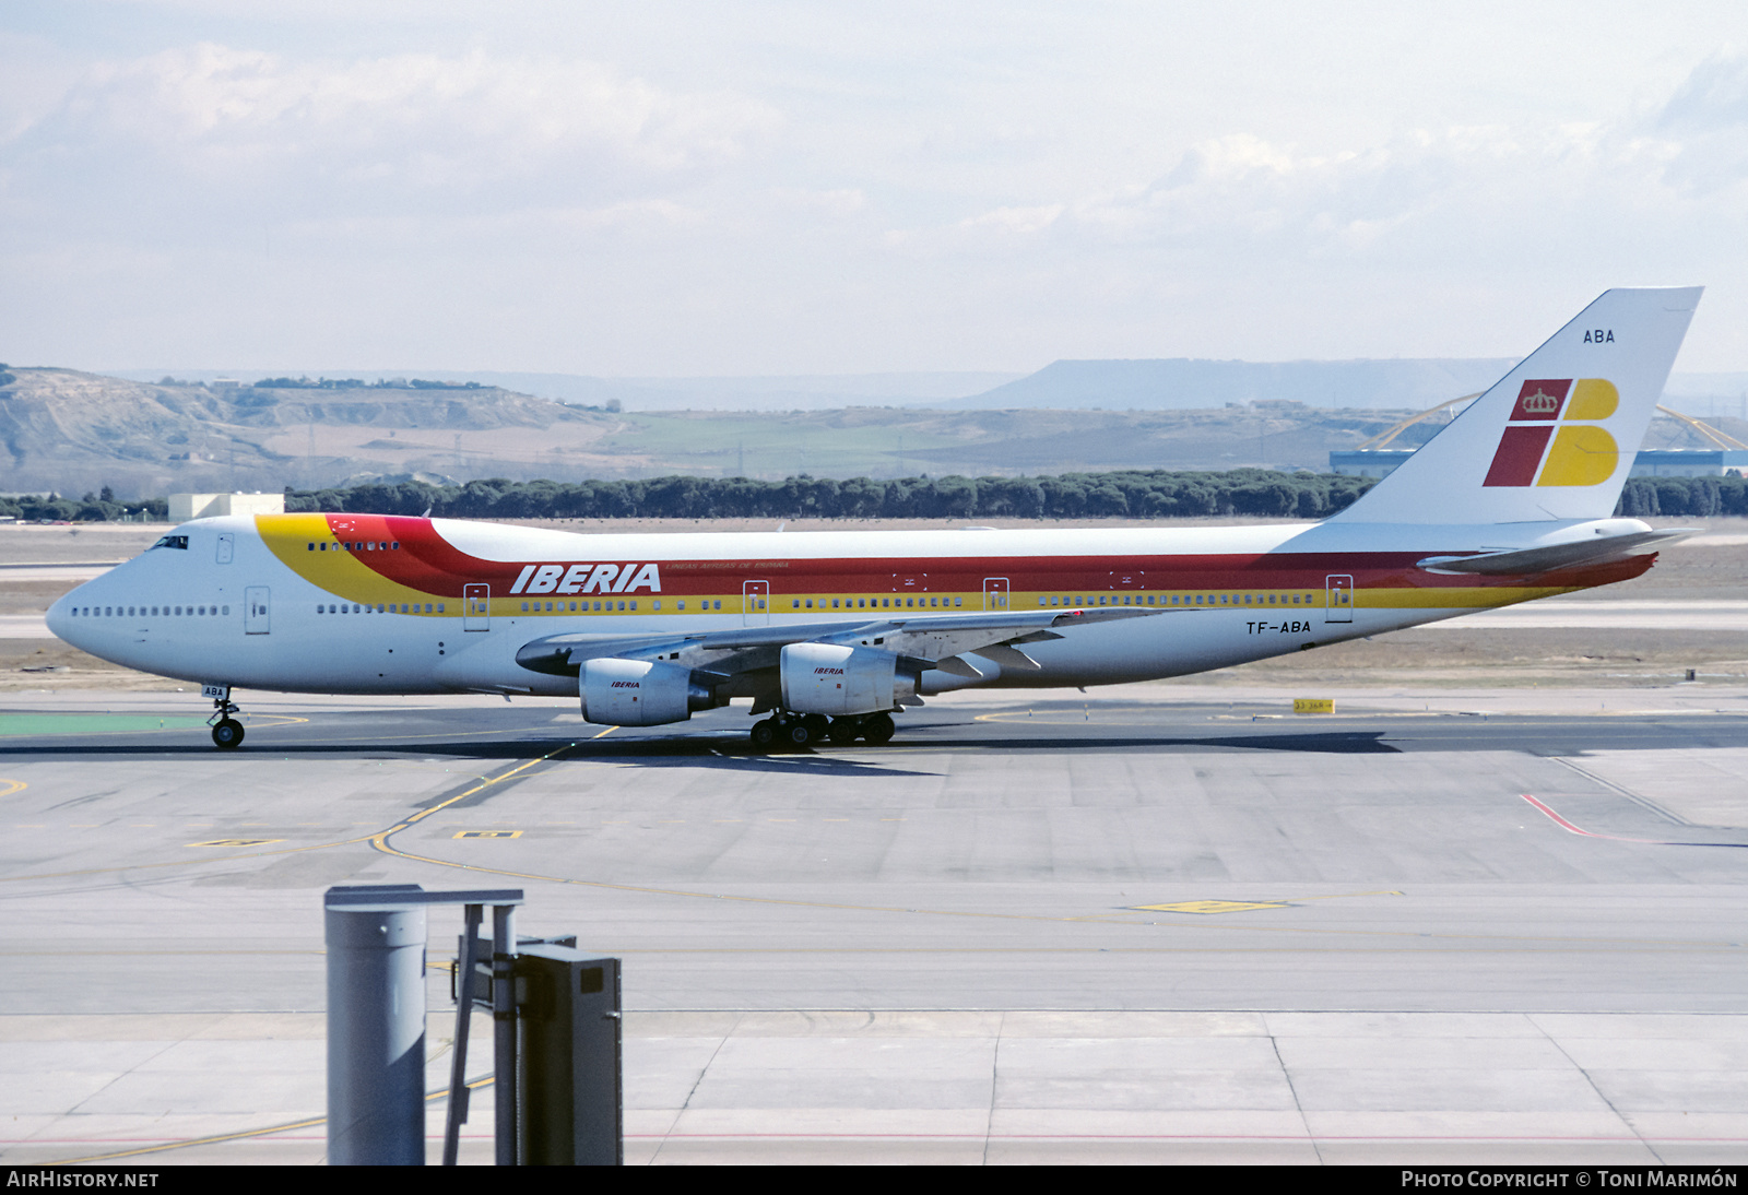
{"label": "pale, hazy, cloud-streaked sky above the hills", "polygon": [[1509,356],[1704,283],[1739,3],[0,7],[0,358],[615,376]]}

